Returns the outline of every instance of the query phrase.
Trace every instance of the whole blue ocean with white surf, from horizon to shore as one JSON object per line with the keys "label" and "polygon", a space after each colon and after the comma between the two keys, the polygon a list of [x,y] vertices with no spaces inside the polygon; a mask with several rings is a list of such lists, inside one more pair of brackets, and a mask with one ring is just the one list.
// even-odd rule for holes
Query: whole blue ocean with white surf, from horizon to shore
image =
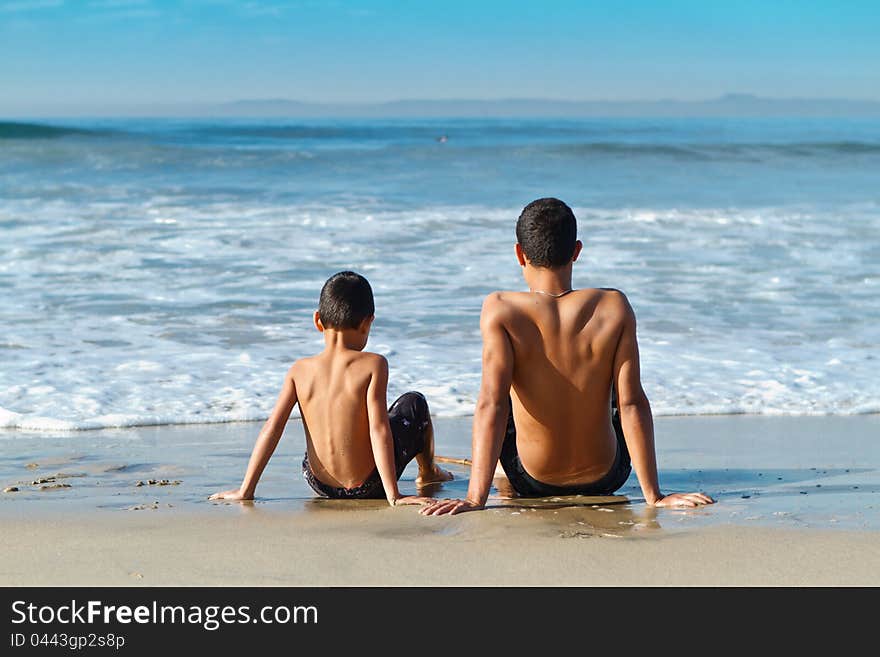
{"label": "whole blue ocean with white surf, from horizon to shore", "polygon": [[342,269],[389,397],[468,415],[543,196],[656,414],[880,412],[878,120],[78,119],[0,122],[0,428],[265,418]]}

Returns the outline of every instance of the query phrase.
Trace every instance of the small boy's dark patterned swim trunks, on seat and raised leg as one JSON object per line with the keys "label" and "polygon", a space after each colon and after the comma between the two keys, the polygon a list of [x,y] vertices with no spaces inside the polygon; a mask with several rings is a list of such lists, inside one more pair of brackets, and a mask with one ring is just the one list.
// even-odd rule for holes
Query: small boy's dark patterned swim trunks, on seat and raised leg
{"label": "small boy's dark patterned swim trunks, on seat and raised leg", "polygon": [[[397,469],[397,478],[400,479],[400,475],[403,474],[409,462],[425,449],[425,438],[428,425],[431,422],[428,401],[420,392],[406,392],[391,404],[388,409],[388,420],[391,423],[391,436],[394,439],[394,465]],[[303,458],[303,477],[312,490],[321,497],[333,499],[385,498],[385,488],[382,486],[378,470],[373,470],[364,483],[354,488],[329,486],[320,481],[312,472],[308,452]]]}

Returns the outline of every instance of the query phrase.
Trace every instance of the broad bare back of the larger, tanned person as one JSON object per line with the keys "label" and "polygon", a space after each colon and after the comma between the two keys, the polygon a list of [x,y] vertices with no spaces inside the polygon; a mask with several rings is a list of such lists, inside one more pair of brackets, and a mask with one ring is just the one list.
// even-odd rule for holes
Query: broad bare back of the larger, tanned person
{"label": "broad bare back of the larger, tanned person", "polygon": [[610,394],[626,316],[614,290],[493,295],[491,314],[513,350],[511,397],[526,470],[553,485],[588,483],[612,466]]}

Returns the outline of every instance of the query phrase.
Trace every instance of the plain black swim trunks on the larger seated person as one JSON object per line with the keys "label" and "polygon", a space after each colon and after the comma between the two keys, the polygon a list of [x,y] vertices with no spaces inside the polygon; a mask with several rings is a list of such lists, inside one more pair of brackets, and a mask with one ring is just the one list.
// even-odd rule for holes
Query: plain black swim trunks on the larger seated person
{"label": "plain black swim trunks on the larger seated person", "polygon": [[507,433],[501,447],[501,467],[513,489],[521,497],[552,497],[556,495],[611,495],[626,483],[632,471],[629,451],[620,426],[620,411],[617,408],[617,395],[611,391],[611,424],[617,436],[617,456],[611,469],[598,481],[574,486],[554,486],[532,477],[523,467],[516,449],[516,427],[513,424],[513,404],[507,416]]}

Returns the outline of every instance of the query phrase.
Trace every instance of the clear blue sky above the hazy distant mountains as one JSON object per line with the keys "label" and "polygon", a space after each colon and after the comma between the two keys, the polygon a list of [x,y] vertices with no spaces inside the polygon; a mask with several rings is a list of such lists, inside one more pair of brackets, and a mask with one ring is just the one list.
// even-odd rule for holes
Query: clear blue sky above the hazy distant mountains
{"label": "clear blue sky above the hazy distant mountains", "polygon": [[0,111],[290,98],[880,100],[880,2],[0,0]]}

